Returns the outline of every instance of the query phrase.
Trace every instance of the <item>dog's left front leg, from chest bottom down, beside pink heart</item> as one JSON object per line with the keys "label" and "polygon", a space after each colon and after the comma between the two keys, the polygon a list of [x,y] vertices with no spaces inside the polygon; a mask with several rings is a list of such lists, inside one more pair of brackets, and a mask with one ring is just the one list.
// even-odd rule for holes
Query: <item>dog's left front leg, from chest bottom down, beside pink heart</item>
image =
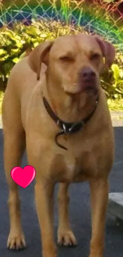
{"label": "dog's left front leg, from chest bottom down, beside pink heart", "polygon": [[35,201],[38,221],[42,236],[42,256],[56,257],[56,246],[53,234],[53,190],[49,181],[38,181],[35,184]]}

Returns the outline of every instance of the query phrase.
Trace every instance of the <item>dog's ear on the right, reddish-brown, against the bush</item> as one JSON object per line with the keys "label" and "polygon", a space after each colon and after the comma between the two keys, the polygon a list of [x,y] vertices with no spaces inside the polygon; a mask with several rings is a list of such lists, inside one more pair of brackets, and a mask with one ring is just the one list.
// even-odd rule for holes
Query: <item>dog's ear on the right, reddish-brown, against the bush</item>
{"label": "dog's ear on the right, reddish-brown, against the bush", "polygon": [[115,59],[115,48],[114,46],[105,41],[102,40],[99,36],[93,36],[95,37],[96,41],[99,43],[99,46],[102,50],[103,57],[105,57],[105,64],[108,68],[113,64]]}

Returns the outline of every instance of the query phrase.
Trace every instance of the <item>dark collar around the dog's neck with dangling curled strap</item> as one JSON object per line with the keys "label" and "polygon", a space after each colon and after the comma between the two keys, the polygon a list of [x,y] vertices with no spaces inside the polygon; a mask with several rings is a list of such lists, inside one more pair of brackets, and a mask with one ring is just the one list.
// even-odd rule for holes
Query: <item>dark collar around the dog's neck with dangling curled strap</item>
{"label": "dark collar around the dog's neck with dangling curled strap", "polygon": [[57,146],[61,147],[64,150],[67,150],[66,147],[60,145],[57,142],[58,136],[63,135],[63,134],[74,134],[74,133],[78,132],[79,130],[81,130],[83,125],[86,124],[91,119],[92,115],[94,114],[94,112],[95,112],[95,110],[97,108],[98,101],[99,101],[99,96],[97,96],[97,98],[96,98],[96,103],[95,103],[94,110],[85,119],[82,119],[82,120],[80,120],[77,123],[68,123],[68,122],[64,122],[63,120],[59,119],[59,117],[55,114],[55,112],[50,107],[50,105],[49,105],[48,101],[46,100],[46,98],[43,97],[43,103],[44,103],[46,111],[48,112],[50,117],[54,120],[54,122],[61,129],[61,132],[56,134],[56,137],[55,137],[55,142],[56,142]]}

